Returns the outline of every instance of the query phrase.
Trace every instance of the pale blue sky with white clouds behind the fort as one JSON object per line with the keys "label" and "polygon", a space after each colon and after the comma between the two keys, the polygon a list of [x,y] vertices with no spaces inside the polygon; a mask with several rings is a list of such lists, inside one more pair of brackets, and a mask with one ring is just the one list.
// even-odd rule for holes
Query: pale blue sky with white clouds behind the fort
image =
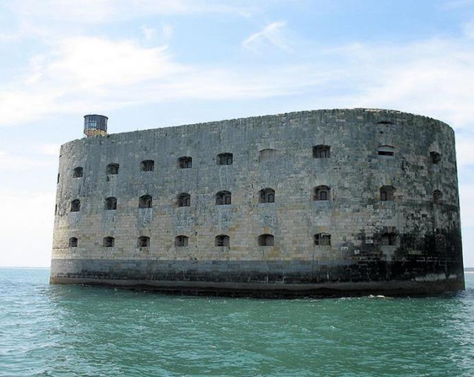
{"label": "pale blue sky with white clouds behind the fort", "polygon": [[323,108],[445,121],[474,267],[474,0],[0,0],[0,266],[47,267],[59,146]]}

